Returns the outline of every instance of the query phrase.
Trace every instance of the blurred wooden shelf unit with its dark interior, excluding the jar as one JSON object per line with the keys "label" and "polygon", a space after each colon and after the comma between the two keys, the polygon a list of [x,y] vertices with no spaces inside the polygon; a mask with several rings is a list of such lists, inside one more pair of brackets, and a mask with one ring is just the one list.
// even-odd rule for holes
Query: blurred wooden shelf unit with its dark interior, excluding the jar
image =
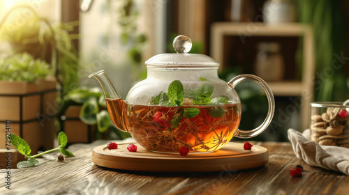
{"label": "blurred wooden shelf unit with its dark interior, excluding the jar", "polygon": [[[309,126],[309,103],[313,101],[314,49],[311,26],[299,23],[266,25],[257,22],[215,22],[211,25],[210,54],[221,62],[221,70],[235,66],[236,56],[244,56],[243,73],[255,74],[253,57],[258,42],[278,42],[285,58],[285,76],[282,81],[267,82],[275,96],[299,96],[301,99],[301,129]],[[302,64],[297,65],[296,51],[302,44]],[[244,49],[241,49],[244,47]],[[247,48],[247,49],[246,49]],[[236,54],[234,54],[236,52]],[[289,60],[290,59],[290,60]],[[246,61],[248,63],[246,63]],[[299,72],[299,73],[298,73]],[[297,76],[299,75],[299,76]],[[262,78],[267,79],[267,78]]]}

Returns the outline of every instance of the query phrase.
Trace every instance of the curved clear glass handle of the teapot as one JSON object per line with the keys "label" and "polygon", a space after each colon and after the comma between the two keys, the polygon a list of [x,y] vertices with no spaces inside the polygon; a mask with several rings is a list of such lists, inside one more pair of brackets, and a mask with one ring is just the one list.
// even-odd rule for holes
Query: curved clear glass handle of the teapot
{"label": "curved clear glass handle of the teapot", "polygon": [[228,84],[230,84],[230,87],[235,88],[237,84],[245,80],[254,81],[255,83],[259,84],[263,88],[263,90],[265,91],[265,94],[267,95],[268,106],[269,106],[267,117],[259,127],[249,131],[237,130],[237,135],[235,137],[247,139],[247,138],[255,137],[261,132],[263,132],[268,127],[268,125],[272,122],[274,111],[275,111],[275,101],[274,101],[274,95],[272,93],[272,90],[269,88],[267,83],[263,79],[255,75],[239,75],[231,79],[228,82]]}

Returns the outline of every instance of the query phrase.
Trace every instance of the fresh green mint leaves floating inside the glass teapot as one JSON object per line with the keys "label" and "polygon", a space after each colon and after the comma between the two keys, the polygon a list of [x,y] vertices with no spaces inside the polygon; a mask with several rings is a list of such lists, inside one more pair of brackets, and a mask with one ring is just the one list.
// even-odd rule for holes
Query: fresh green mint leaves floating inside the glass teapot
{"label": "fresh green mint leaves floating inside the glass teapot", "polygon": [[[205,78],[200,77],[200,81],[207,81]],[[213,84],[202,84],[198,88],[192,91],[184,91],[183,84],[179,80],[174,80],[168,86],[168,93],[161,91],[158,95],[150,98],[151,104],[158,104],[161,106],[168,107],[180,107],[183,106],[184,98],[190,98],[193,100],[193,104],[197,105],[218,105],[218,104],[228,104],[228,98],[224,96],[216,97],[211,99],[211,95],[214,91]],[[209,115],[215,118],[221,118],[224,115],[224,109],[221,107],[215,107],[209,112]],[[176,128],[181,118],[194,118],[200,114],[200,109],[198,108],[184,108],[179,109],[175,113],[170,121],[173,128]]]}

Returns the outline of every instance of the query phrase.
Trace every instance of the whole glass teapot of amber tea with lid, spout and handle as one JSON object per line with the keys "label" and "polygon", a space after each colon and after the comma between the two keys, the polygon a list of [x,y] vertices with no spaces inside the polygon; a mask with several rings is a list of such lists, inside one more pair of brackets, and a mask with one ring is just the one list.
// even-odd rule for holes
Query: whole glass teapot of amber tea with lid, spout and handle
{"label": "whole glass teapot of amber tea with lid, spout and handle", "polygon": [[[218,78],[219,63],[202,54],[187,54],[191,40],[174,38],[177,54],[158,54],[145,62],[147,79],[135,84],[126,100],[104,70],[89,77],[103,89],[107,110],[119,130],[129,132],[140,146],[160,153],[207,153],[222,148],[232,137],[251,138],[264,131],[274,116],[274,96],[255,75],[239,75],[226,83]],[[234,87],[249,80],[267,95],[269,110],[254,130],[239,130],[241,102]]]}

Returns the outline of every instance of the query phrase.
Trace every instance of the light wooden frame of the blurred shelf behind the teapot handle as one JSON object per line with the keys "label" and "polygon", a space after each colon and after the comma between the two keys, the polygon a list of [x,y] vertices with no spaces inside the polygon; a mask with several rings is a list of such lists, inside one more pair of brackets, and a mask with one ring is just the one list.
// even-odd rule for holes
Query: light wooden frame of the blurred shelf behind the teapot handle
{"label": "light wooden frame of the blurred shelf behind the teapot handle", "polygon": [[311,26],[299,23],[267,25],[254,22],[216,22],[211,25],[210,54],[212,58],[221,63],[224,59],[225,36],[238,36],[242,38],[242,41],[244,41],[244,38],[252,36],[303,38],[302,79],[300,81],[268,82],[268,84],[275,96],[301,97],[300,127],[302,130],[308,128],[309,104],[313,101],[313,79],[315,78],[313,30]]}

